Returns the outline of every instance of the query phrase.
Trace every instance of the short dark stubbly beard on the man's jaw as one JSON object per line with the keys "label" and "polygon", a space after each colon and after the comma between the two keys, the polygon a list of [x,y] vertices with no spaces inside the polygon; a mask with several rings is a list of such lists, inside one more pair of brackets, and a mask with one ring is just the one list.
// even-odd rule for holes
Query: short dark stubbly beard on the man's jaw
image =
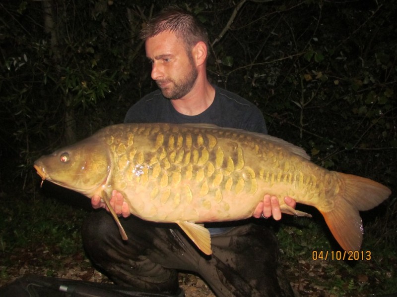
{"label": "short dark stubbly beard on the man's jaw", "polygon": [[[190,71],[187,75],[185,75],[180,81],[176,81],[173,79],[162,79],[157,80],[156,84],[161,90],[163,96],[167,99],[181,99],[186,96],[193,88],[197,80],[197,69],[193,65],[193,61],[190,60]],[[171,83],[168,87],[162,87],[164,83]]]}

